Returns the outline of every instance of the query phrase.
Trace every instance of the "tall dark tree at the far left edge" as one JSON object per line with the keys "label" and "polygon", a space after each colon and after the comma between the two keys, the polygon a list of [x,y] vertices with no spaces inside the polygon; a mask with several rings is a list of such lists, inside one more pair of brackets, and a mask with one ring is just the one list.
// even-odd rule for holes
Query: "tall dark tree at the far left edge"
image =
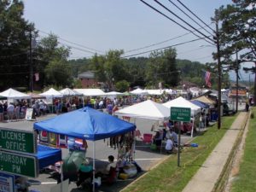
{"label": "tall dark tree at the far left edge", "polygon": [[29,86],[28,50],[32,23],[21,1],[0,1],[0,89]]}

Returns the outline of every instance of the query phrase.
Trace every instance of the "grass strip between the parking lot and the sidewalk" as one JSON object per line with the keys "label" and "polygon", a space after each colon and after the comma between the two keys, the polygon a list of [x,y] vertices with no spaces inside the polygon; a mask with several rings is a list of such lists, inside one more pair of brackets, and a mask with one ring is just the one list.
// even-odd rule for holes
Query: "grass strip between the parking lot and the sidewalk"
{"label": "grass strip between the parking lot and the sidewalk", "polygon": [[203,135],[196,137],[193,143],[198,143],[198,148],[183,148],[180,167],[177,167],[177,154],[171,154],[159,166],[123,191],[182,191],[230,128],[234,119],[236,116],[224,117],[220,130],[214,125]]}

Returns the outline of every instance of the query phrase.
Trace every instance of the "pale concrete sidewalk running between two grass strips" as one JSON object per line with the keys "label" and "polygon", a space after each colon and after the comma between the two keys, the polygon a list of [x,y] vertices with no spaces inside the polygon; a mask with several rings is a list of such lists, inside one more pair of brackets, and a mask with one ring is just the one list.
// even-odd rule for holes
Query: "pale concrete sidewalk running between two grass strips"
{"label": "pale concrete sidewalk running between two grass strips", "polygon": [[183,192],[211,192],[229,158],[239,131],[243,129],[247,113],[241,112],[207,160],[189,181]]}

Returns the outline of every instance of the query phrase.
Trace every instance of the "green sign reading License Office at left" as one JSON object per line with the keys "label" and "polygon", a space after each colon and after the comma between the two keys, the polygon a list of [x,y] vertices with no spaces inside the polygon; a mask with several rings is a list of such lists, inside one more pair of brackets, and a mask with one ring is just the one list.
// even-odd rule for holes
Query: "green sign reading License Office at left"
{"label": "green sign reading License Office at left", "polygon": [[19,153],[37,153],[33,132],[0,128],[0,149]]}

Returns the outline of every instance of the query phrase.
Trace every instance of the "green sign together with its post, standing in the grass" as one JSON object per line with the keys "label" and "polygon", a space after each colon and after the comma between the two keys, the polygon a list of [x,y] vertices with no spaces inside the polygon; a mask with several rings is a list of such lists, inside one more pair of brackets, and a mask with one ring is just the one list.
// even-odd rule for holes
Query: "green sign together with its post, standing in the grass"
{"label": "green sign together with its post, standing in the grass", "polygon": [[181,122],[190,122],[191,108],[171,108],[170,119],[178,121],[177,166],[180,166],[180,128]]}

